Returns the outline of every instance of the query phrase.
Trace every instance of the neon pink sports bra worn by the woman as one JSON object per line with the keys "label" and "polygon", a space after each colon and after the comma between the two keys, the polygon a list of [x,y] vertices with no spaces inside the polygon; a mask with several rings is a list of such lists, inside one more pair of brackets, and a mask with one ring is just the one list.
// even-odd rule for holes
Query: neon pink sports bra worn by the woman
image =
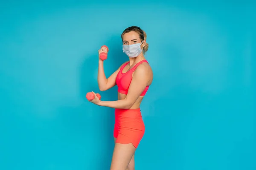
{"label": "neon pink sports bra worn by the woman", "polygon": [[[128,93],[128,89],[131,83],[131,79],[132,79],[132,74],[135,71],[135,69],[143,62],[147,62],[147,60],[142,60],[140,62],[138,62],[133,68],[131,68],[131,70],[127,71],[126,73],[122,73],[123,69],[125,68],[126,65],[129,64],[129,62],[125,63],[124,65],[122,65],[122,67],[120,68],[120,71],[117,74],[116,77],[116,85],[118,87],[118,92],[122,93],[122,94],[127,94]],[[148,91],[149,86],[147,86],[144,91],[142,92],[142,94],[140,96],[145,96],[146,92]]]}

